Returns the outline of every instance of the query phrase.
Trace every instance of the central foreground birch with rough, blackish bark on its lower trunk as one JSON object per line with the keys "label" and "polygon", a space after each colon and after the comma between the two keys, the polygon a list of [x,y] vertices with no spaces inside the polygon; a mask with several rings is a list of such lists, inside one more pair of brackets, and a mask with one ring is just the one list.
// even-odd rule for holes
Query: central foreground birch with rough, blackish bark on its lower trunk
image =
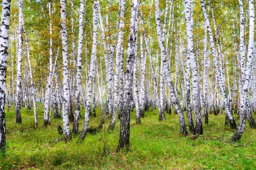
{"label": "central foreground birch with rough, blackish bark on its lower trunk", "polygon": [[130,145],[130,102],[132,95],[132,78],[134,68],[134,58],[137,45],[137,28],[138,28],[138,8],[139,0],[132,0],[131,4],[131,18],[130,18],[130,34],[128,37],[127,60],[125,68],[124,81],[124,99],[123,109],[120,115],[120,135],[118,149],[126,147],[129,150]]}

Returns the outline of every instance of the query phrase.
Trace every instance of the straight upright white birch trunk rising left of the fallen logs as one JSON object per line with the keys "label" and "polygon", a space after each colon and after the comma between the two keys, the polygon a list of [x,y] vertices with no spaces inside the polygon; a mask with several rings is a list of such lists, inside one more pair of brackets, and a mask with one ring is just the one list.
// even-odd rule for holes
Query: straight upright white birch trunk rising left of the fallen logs
{"label": "straight upright white birch trunk rising left of the fallen logs", "polygon": [[67,30],[66,30],[66,1],[61,0],[61,40],[62,40],[62,57],[63,57],[63,102],[62,102],[62,117],[63,117],[63,137],[65,141],[71,139],[67,102],[69,100],[68,87],[68,54],[67,54]]}

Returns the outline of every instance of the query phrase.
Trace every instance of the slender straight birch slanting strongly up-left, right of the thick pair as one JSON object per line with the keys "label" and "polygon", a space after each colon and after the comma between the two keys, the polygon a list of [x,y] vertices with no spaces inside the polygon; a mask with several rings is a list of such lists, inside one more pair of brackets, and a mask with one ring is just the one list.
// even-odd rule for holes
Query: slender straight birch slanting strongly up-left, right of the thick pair
{"label": "slender straight birch slanting strongly up-left, right of the thick pair", "polygon": [[209,41],[210,41],[210,45],[212,47],[213,62],[214,62],[216,72],[217,72],[216,75],[217,75],[217,79],[218,79],[219,88],[220,88],[220,91],[221,91],[221,94],[222,94],[222,97],[223,97],[223,101],[224,101],[225,112],[228,116],[228,119],[229,119],[229,122],[230,122],[230,127],[232,129],[236,129],[236,122],[233,118],[233,115],[230,111],[230,107],[229,107],[229,104],[228,104],[228,101],[227,101],[225,83],[224,83],[224,80],[221,77],[221,70],[219,68],[216,48],[215,48],[215,44],[214,44],[214,40],[213,40],[213,36],[212,36],[212,28],[211,28],[210,23],[209,23],[209,18],[208,18],[207,12],[206,12],[205,3],[204,3],[204,0],[200,0],[200,2],[201,2],[201,6],[202,6],[202,9],[203,9],[203,13],[204,13],[204,18],[205,18],[206,23],[207,23],[207,28],[208,28],[208,33],[209,33]]}

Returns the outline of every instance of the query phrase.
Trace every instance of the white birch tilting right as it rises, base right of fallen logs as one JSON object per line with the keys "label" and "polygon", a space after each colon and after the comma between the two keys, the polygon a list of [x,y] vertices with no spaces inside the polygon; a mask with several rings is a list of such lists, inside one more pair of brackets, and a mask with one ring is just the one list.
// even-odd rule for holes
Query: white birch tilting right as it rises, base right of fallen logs
{"label": "white birch tilting right as it rises, base right of fallen logs", "polygon": [[90,111],[90,98],[91,98],[91,87],[93,77],[95,77],[95,63],[96,63],[96,50],[97,50],[97,29],[98,29],[98,12],[99,9],[99,1],[94,0],[93,4],[93,46],[92,46],[92,53],[90,59],[90,72],[87,79],[87,88],[86,88],[86,105],[85,105],[85,114],[84,114],[84,127],[79,136],[79,141],[84,140],[86,135],[86,130],[89,126],[89,111]]}

